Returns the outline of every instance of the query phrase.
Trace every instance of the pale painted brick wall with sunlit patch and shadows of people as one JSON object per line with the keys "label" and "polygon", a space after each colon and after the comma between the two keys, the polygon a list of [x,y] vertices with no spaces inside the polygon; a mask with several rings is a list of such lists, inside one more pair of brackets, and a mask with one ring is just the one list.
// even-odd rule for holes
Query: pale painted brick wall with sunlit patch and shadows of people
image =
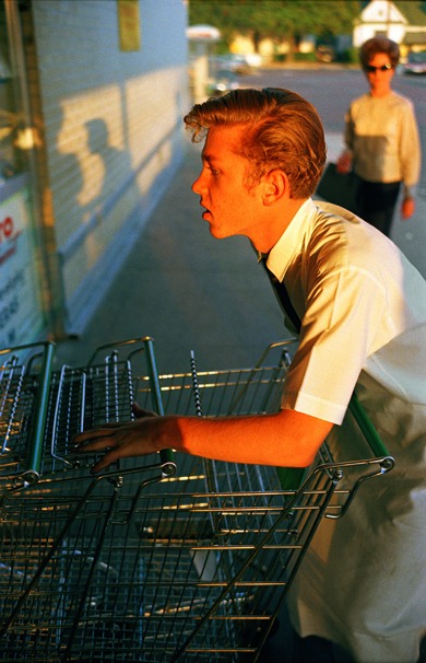
{"label": "pale painted brick wall with sunlit patch and shadows of people", "polygon": [[185,0],[139,0],[141,49],[119,48],[116,0],[33,2],[68,330],[93,314],[170,181],[187,139]]}

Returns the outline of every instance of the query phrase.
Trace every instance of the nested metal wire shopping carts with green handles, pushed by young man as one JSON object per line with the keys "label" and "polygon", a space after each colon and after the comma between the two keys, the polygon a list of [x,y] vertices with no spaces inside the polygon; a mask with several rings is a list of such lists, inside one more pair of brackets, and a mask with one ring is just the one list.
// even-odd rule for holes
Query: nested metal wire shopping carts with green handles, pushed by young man
{"label": "nested metal wire shopping carts with green handles, pushed by young man", "polygon": [[303,475],[166,451],[93,478],[73,435],[129,419],[134,399],[161,415],[276,411],[288,345],[249,369],[201,372],[192,356],[161,375],[151,339],[60,371],[50,346],[33,350],[3,353],[0,659],[257,661],[318,524],[393,466],[358,403],[365,453],[336,463],[323,444]]}

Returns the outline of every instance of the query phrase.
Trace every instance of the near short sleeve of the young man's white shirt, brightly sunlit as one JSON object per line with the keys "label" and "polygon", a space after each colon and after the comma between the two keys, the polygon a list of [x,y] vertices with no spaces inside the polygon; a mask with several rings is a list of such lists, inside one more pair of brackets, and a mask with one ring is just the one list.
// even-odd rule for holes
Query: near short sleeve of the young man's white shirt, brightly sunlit
{"label": "near short sleeve of the young man's white shirt, brightly sunlit", "polygon": [[368,271],[348,266],[315,283],[282,408],[341,423],[383,315],[384,288]]}

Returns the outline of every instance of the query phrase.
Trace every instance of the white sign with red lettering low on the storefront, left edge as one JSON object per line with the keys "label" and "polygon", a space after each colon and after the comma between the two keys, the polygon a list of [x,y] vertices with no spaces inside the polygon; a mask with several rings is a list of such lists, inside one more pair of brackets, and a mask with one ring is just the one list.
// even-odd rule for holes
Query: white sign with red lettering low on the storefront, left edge
{"label": "white sign with red lettering low on the storefront, left edge", "polygon": [[26,188],[0,203],[0,348],[38,338],[44,316]]}

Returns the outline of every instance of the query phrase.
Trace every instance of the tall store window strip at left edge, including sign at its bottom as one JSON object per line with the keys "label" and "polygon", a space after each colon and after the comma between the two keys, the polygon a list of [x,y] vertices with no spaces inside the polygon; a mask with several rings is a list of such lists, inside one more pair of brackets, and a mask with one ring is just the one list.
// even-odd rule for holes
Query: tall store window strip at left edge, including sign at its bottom
{"label": "tall store window strip at left edge, including sign at its bottom", "polygon": [[17,7],[0,0],[0,348],[39,340],[46,326]]}

